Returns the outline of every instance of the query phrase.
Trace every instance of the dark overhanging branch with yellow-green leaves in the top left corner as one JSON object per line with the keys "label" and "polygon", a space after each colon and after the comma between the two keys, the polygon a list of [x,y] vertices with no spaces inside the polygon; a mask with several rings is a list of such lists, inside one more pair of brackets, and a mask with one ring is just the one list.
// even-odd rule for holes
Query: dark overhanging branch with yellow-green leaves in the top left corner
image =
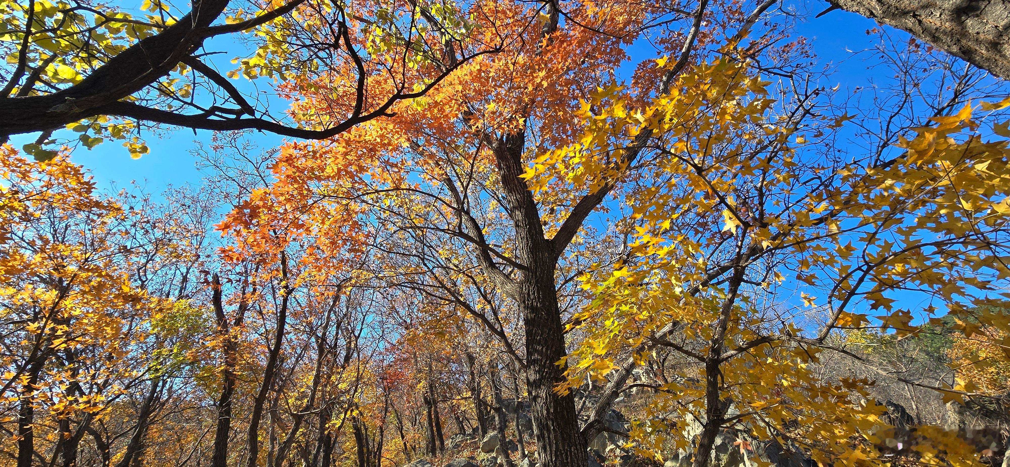
{"label": "dark overhanging branch with yellow-green leaves in the top left corner", "polygon": [[[0,137],[42,131],[26,147],[41,159],[56,155],[43,146],[59,143],[53,131],[65,126],[82,133],[75,145],[90,149],[106,137],[127,139],[124,146],[135,155],[146,152],[138,136],[152,124],[329,137],[387,116],[391,106],[423,95],[470,59],[434,71],[430,62],[437,54],[414,37],[425,29],[458,34],[448,44],[466,30],[458,18],[418,16],[413,6],[396,2],[292,0],[261,7],[203,0],[177,11],[153,1],[142,6],[142,19],[89,0],[28,0],[3,8],[5,55],[13,62],[0,89]],[[236,58],[239,65],[227,77],[206,62],[218,53],[202,52],[205,41],[219,36],[256,50]],[[375,61],[375,48],[395,50],[385,56],[395,59]],[[285,97],[292,97],[285,83],[294,77],[340,77],[342,85],[327,112],[295,126],[275,115],[259,92],[232,84],[239,74],[274,79]]]}

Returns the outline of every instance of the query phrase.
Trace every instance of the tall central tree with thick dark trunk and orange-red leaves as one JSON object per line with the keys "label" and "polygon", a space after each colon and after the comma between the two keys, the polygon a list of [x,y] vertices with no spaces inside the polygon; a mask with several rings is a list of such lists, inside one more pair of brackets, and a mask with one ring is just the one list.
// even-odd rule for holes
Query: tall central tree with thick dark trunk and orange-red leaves
{"label": "tall central tree with thick dark trunk and orange-red leaves", "polygon": [[[462,67],[436,92],[412,106],[402,105],[396,118],[360,126],[332,142],[286,147],[275,168],[279,182],[272,202],[257,202],[248,209],[259,219],[236,211],[233,222],[243,228],[254,225],[258,231],[266,231],[274,222],[314,229],[318,221],[308,219],[332,222],[363,205],[374,207],[379,214],[366,218],[382,215],[375,231],[392,226],[389,242],[381,248],[409,258],[410,267],[421,274],[428,272],[429,264],[452,265],[443,270],[449,277],[429,275],[429,281],[413,281],[414,285],[440,288],[431,293],[441,294],[488,325],[511,350],[510,357],[519,361],[530,393],[539,461],[548,466],[583,465],[587,437],[575,397],[556,391],[565,381],[565,368],[558,363],[567,355],[566,310],[560,296],[566,286],[559,284],[572,283],[565,277],[576,273],[579,253],[570,247],[588,228],[587,218],[607,199],[613,184],[580,187],[585,189],[538,200],[521,177],[525,166],[532,154],[569,143],[576,124],[572,109],[579,108],[580,100],[595,88],[612,81],[624,48],[635,37],[655,28],[656,40],[676,48],[668,68],[655,68],[650,61],[638,68],[636,80],[641,82],[636,81],[635,87],[640,96],[665,94],[669,83],[686,69],[696,45],[709,44],[718,33],[735,35],[747,29],[772,4],[753,5],[744,12],[737,6],[708,2],[658,8],[615,2],[601,17],[593,16],[603,11],[597,5],[573,4],[561,11],[550,2],[535,7],[521,2],[498,2],[493,8],[478,4],[470,13],[482,21],[474,28],[475,40],[492,40],[478,34],[504,35],[508,46],[494,58]],[[562,15],[568,18],[564,28],[559,26]],[[712,25],[703,30],[706,20]],[[686,24],[688,33],[658,26],[672,21]],[[537,35],[530,36],[531,30],[538,30]],[[768,39],[755,41],[755,50],[768,45]],[[451,57],[456,51],[446,49],[444,54]],[[327,90],[316,85],[301,92],[315,96]],[[304,105],[321,104],[306,99]],[[613,165],[633,160],[629,156]],[[370,169],[370,164],[378,169]],[[362,170],[369,176],[337,175]],[[541,209],[539,202],[551,207]],[[411,231],[422,232],[416,237],[420,242],[401,243]],[[470,277],[452,277],[452,270],[467,271]],[[470,283],[480,288],[482,281],[493,285],[501,303],[485,306],[462,298],[466,294],[460,289]],[[496,307],[515,310],[522,328],[514,335],[521,339],[517,345],[491,318]]]}

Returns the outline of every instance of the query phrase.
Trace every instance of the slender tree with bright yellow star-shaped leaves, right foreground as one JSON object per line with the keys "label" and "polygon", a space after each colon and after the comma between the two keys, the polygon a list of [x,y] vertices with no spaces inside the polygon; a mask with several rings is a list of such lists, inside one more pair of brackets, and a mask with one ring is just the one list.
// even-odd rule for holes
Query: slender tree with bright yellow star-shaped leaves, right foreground
{"label": "slender tree with bright yellow star-shaped leaves, right foreground", "polygon": [[[987,141],[973,119],[1010,99],[931,117],[897,154],[845,163],[805,159],[801,148],[847,116],[807,120],[815,113],[803,100],[772,113],[766,84],[741,62],[720,59],[652,106],[629,109],[601,92],[587,106],[583,139],[527,172],[544,187],[556,178],[580,186],[628,177],[598,161],[620,157],[643,131],[658,138],[653,163],[665,175],[650,173],[628,193],[633,256],[583,277],[597,298],[577,315],[591,331],[569,359],[570,384],[607,382],[667,348],[678,365],[648,385],[651,408],[631,432],[643,445],[673,436],[702,467],[728,431],[740,443],[774,439],[820,463],[862,465],[883,457],[888,437],[873,434],[886,425],[883,409],[858,402],[873,383],[824,381],[809,368],[822,350],[846,353],[827,338],[867,326],[873,311],[899,337],[918,333],[897,294],[935,303],[926,318],[937,306],[956,314],[954,297],[988,303],[987,291],[1010,277],[1007,193],[990,186],[1005,177],[1008,144]],[[1003,125],[995,122],[1000,137],[1010,135]],[[802,307],[822,310],[819,329],[797,325],[790,314]],[[934,389],[945,399],[967,393]],[[937,427],[916,436],[902,455],[976,462],[973,446]]]}

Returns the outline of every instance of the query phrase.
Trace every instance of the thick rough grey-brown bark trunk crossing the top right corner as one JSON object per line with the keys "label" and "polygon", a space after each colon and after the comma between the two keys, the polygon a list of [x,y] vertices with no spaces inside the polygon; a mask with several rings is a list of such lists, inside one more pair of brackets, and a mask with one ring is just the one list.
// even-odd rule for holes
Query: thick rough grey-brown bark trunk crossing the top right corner
{"label": "thick rough grey-brown bark trunk crossing the top right corner", "polygon": [[1010,0],[829,0],[1010,79]]}

